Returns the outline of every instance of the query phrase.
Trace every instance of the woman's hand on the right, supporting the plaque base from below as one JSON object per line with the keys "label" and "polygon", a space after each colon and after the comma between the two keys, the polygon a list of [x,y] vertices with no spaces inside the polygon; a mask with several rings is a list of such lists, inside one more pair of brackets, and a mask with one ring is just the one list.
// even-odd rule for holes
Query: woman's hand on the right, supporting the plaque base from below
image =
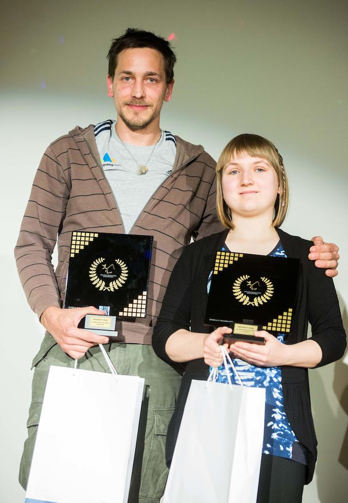
{"label": "woman's hand on the right, supporting the plaque base from below", "polygon": [[288,364],[289,348],[291,346],[278,341],[276,337],[265,330],[256,331],[254,335],[256,337],[264,337],[266,344],[235,342],[229,347],[229,351],[234,353],[234,358],[241,358],[258,367],[277,367]]}

